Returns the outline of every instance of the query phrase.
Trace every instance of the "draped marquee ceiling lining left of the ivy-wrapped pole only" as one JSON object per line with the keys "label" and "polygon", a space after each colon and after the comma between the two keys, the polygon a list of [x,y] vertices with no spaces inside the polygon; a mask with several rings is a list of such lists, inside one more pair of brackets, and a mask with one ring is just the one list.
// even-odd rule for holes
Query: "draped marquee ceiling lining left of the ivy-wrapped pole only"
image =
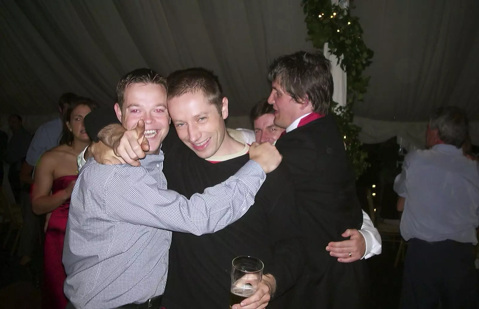
{"label": "draped marquee ceiling lining left of the ivy-wrapped pole only", "polygon": [[275,57],[312,50],[298,0],[0,3],[0,113],[53,113],[64,91],[111,104],[129,70],[204,66],[219,76],[230,113],[246,115],[268,96]]}

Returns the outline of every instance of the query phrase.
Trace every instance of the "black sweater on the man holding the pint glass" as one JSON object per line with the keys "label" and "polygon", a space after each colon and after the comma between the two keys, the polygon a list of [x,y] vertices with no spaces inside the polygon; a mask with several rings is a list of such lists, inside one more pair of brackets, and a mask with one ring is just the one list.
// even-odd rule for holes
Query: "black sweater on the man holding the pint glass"
{"label": "black sweater on the man holding the pint glass", "polygon": [[[226,180],[249,160],[249,155],[242,155],[210,163],[186,147],[173,128],[162,150],[168,188],[188,198]],[[228,308],[231,261],[239,255],[251,255],[263,261],[264,274],[271,273],[276,278],[275,299],[268,308],[282,308],[281,295],[302,272],[299,235],[293,182],[285,166],[280,165],[268,174],[254,205],[238,221],[202,236],[173,232],[162,306]]]}

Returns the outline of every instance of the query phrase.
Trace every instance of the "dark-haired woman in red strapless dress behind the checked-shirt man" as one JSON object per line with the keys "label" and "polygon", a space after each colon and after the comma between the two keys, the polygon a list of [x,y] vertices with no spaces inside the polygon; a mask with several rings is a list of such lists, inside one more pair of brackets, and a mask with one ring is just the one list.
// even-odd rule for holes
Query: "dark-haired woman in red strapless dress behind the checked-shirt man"
{"label": "dark-haired woman in red strapless dress behind the checked-shirt man", "polygon": [[93,107],[96,103],[87,98],[71,103],[63,121],[60,145],[43,154],[35,167],[32,210],[37,215],[50,213],[45,232],[43,309],[65,309],[68,302],[63,293],[63,242],[71,192],[78,176],[77,156],[90,143],[83,118]]}

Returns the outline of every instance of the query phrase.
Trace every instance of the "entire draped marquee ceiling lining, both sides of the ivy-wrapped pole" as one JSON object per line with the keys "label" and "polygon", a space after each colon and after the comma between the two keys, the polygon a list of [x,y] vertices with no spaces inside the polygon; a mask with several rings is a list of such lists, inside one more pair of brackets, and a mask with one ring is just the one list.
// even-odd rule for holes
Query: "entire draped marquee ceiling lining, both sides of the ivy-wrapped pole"
{"label": "entire draped marquee ceiling lining, both sides of the ivy-wrapped pole", "polygon": [[[215,71],[230,101],[231,126],[247,126],[269,93],[271,61],[313,50],[301,0],[0,0],[0,123],[23,115],[34,130],[56,117],[62,92],[105,105],[127,71]],[[421,144],[429,112],[457,105],[479,121],[477,0],[361,0],[374,52],[355,121],[365,142],[398,134]],[[417,126],[408,123],[418,123]],[[0,125],[0,126],[2,126]],[[417,128],[417,129],[414,129]],[[421,128],[421,131],[419,130]],[[473,142],[479,143],[473,126]]]}

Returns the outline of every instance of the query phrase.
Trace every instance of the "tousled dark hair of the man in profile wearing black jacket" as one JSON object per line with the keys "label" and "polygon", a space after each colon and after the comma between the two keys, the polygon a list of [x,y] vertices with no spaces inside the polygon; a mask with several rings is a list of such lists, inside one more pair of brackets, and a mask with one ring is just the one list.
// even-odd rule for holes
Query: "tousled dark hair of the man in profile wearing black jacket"
{"label": "tousled dark hair of the man in profile wearing black jacket", "polygon": [[326,115],[332,94],[331,62],[320,52],[299,51],[271,64],[270,81],[276,81],[296,101],[309,99],[313,110]]}

